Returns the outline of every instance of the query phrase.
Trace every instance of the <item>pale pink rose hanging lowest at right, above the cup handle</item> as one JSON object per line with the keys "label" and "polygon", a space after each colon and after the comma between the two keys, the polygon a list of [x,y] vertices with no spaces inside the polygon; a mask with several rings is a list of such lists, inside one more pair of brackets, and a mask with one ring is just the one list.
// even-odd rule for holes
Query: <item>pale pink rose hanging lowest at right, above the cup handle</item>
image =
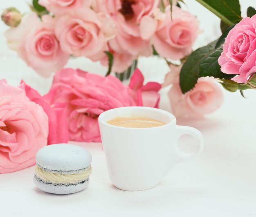
{"label": "pale pink rose hanging lowest at right, above the cup handle", "polygon": [[195,87],[185,94],[182,94],[177,79],[168,96],[173,114],[177,117],[200,117],[212,113],[223,102],[222,90],[212,77],[199,78]]}

